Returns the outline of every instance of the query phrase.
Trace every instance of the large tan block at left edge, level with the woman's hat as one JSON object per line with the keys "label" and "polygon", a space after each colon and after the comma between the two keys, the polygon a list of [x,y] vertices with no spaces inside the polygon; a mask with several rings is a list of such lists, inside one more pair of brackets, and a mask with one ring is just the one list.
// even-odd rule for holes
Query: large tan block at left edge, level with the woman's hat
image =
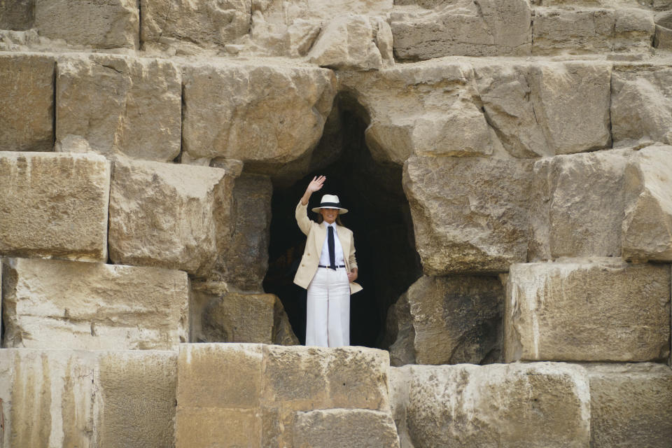
{"label": "large tan block at left edge, level with the woman's hat", "polygon": [[0,152],[0,255],[107,260],[110,163]]}

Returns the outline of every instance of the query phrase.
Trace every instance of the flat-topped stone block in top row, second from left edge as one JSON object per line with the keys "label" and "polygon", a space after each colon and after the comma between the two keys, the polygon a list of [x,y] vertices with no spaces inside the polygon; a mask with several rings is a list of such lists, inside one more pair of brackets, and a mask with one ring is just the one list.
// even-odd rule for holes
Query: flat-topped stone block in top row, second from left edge
{"label": "flat-topped stone block in top row, second from left edge", "polygon": [[138,0],[35,0],[41,36],[93,48],[139,48]]}

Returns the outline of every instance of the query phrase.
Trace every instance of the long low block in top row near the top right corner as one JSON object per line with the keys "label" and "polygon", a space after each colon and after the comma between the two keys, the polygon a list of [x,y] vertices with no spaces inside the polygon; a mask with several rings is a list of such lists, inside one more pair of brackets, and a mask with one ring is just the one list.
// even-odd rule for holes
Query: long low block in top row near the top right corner
{"label": "long low block in top row near the top right corner", "polygon": [[532,53],[648,51],[654,27],[639,8],[535,8]]}

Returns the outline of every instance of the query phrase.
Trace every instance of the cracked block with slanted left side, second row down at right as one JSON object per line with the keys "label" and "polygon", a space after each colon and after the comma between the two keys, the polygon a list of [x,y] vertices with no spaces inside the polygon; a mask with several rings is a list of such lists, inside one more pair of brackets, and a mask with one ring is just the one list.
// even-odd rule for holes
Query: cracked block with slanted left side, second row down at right
{"label": "cracked block with slanted left side, second row down at right", "polygon": [[531,158],[610,146],[610,64],[477,63],[475,72],[488,123],[511,155]]}

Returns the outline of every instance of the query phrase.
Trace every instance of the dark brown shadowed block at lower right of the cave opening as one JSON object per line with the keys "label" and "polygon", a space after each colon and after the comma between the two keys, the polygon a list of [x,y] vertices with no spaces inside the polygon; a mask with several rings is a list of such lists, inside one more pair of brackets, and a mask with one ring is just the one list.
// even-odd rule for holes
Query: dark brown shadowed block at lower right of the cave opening
{"label": "dark brown shadowed block at lower right of the cave opening", "polygon": [[407,360],[406,346],[414,355],[410,363],[417,364],[479,364],[498,351],[504,288],[496,277],[423,276],[401,306],[404,301],[413,330],[404,332],[402,325],[400,337],[412,339],[404,343],[398,337],[391,360]]}

